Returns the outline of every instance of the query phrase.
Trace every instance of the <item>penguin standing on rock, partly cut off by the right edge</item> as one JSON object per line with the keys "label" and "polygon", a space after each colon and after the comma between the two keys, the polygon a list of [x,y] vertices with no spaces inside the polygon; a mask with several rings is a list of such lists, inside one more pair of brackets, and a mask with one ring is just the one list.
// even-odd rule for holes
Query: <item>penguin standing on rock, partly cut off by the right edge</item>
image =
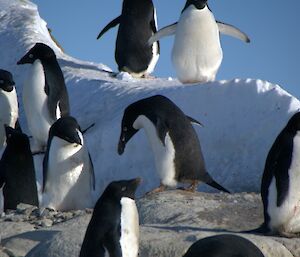
{"label": "penguin standing on rock, partly cut off by the right edge", "polygon": [[297,112],[267,155],[261,182],[264,223],[252,232],[285,237],[300,233],[299,184],[300,112]]}

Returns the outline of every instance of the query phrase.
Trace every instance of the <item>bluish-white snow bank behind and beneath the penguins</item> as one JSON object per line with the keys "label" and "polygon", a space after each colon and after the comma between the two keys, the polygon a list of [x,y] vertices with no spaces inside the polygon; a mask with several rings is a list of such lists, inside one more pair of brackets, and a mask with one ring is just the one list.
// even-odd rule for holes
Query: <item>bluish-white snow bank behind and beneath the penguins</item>
{"label": "bluish-white snow bank behind and beneath the penguins", "polygon": [[[195,126],[207,170],[231,191],[258,191],[265,158],[275,137],[300,102],[277,85],[252,79],[182,85],[176,79],[112,78],[102,64],[76,60],[51,40],[36,5],[25,0],[0,2],[0,67],[11,71],[17,85],[21,125],[28,133],[21,94],[27,65],[16,62],[36,42],[54,49],[64,72],[71,114],[84,129],[96,173],[95,199],[111,180],[142,177],[139,194],[159,185],[154,157],[143,130],[117,153],[124,108],[133,101],[162,94],[187,115],[201,121]],[[63,24],[62,24],[63,26]],[[93,39],[91,39],[93,40]],[[36,160],[41,180],[41,160]],[[208,187],[200,186],[200,190]]]}

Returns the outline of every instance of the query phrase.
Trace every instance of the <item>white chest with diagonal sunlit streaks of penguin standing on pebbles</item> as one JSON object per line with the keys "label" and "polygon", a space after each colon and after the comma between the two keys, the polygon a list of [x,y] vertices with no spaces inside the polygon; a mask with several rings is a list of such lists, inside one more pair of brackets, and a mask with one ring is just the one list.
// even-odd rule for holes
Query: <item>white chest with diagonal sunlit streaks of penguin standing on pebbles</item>
{"label": "white chest with diagonal sunlit streaks of penguin standing on pebbles", "polygon": [[91,207],[88,152],[84,146],[53,137],[43,205],[57,210]]}

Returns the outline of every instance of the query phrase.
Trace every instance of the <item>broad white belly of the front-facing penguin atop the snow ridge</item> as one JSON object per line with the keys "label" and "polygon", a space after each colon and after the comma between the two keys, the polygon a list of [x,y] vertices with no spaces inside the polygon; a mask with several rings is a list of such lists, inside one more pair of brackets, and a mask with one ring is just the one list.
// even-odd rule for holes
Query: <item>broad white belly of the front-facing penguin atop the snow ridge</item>
{"label": "broad white belly of the front-facing penguin atop the snow ridge", "polygon": [[215,80],[223,58],[219,29],[207,6],[189,6],[178,21],[172,61],[183,83]]}

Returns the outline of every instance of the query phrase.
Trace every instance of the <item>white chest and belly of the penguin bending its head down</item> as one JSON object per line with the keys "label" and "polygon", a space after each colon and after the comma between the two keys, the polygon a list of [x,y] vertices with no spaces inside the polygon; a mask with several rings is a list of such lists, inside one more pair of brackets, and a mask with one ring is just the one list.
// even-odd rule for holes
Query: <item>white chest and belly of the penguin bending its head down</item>
{"label": "white chest and belly of the penguin bending its head down", "polygon": [[166,186],[175,187],[177,185],[174,163],[175,148],[169,133],[166,134],[163,144],[157,135],[154,124],[144,115],[138,116],[133,123],[133,127],[135,129],[145,129],[154,154],[155,166],[160,176],[161,183]]}

